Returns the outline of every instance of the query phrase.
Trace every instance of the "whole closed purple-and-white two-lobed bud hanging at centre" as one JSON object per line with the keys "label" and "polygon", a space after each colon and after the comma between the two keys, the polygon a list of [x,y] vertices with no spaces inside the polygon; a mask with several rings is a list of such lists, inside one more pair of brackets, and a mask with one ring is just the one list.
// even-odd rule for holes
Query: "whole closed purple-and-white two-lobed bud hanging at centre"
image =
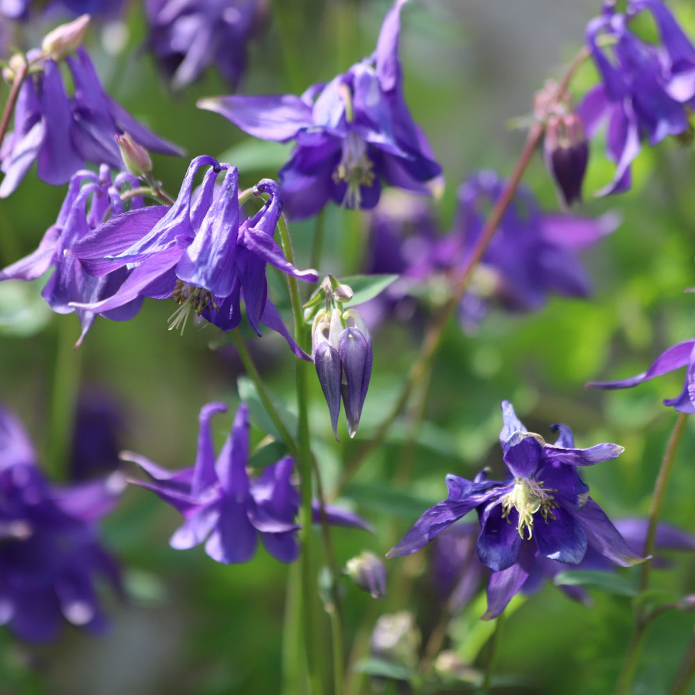
{"label": "whole closed purple-and-white two-lobed bud hanging at centre", "polygon": [[313,319],[311,342],[333,434],[338,439],[342,396],[347,431],[354,437],[372,375],[372,338],[366,324],[355,309],[320,309]]}

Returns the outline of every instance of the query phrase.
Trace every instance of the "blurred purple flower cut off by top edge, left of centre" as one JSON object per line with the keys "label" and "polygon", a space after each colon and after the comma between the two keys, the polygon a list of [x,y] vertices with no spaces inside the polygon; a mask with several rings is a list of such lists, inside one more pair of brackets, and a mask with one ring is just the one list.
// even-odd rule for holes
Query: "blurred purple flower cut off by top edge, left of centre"
{"label": "blurred purple flower cut off by top edge, left of centre", "polygon": [[147,0],[145,11],[149,45],[174,88],[197,80],[213,63],[236,88],[263,0]]}

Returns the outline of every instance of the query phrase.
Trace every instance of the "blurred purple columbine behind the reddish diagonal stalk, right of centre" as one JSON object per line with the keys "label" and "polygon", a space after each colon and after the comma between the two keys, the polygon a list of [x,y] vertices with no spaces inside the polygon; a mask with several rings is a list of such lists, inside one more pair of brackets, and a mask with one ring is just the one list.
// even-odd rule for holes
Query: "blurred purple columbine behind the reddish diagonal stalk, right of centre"
{"label": "blurred purple columbine behind the reddish diagonal stalk, right of centre", "polygon": [[[454,229],[439,247],[444,268],[467,263],[484,228],[487,206],[497,202],[504,188],[505,181],[491,171],[472,174],[461,185]],[[482,320],[490,298],[512,311],[532,311],[545,304],[550,292],[586,297],[591,284],[576,252],[610,234],[618,224],[612,213],[598,219],[543,213],[530,190],[522,186],[461,300],[464,326],[473,328]]]}

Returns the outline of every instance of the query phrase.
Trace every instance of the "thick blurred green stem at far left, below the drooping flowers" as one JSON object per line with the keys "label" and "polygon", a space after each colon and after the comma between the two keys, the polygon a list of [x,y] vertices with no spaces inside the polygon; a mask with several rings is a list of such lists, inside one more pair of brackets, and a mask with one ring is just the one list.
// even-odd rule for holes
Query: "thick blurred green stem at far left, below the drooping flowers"
{"label": "thick blurred green stem at far left, below the drooping flowers", "polygon": [[59,317],[56,328],[56,367],[51,393],[47,463],[54,479],[65,480],[79,391],[81,352],[74,348],[74,323],[71,320]]}

